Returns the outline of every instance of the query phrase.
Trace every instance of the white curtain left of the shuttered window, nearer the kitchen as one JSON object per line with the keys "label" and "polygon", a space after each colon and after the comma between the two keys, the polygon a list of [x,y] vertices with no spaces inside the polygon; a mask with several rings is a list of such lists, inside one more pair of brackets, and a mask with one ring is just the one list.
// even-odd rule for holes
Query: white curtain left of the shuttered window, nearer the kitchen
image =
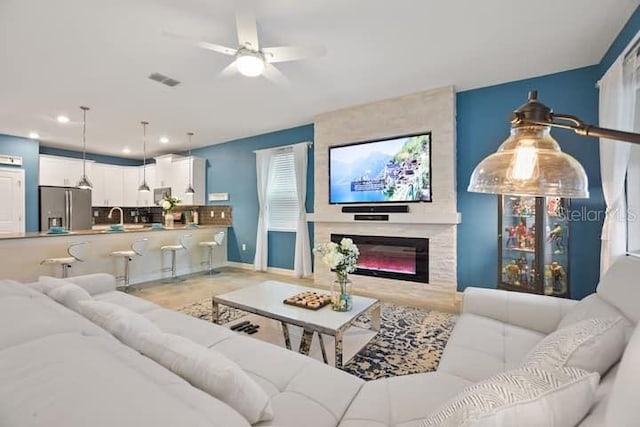
{"label": "white curtain left of the shuttered window, nearer the kitchen", "polygon": [[272,152],[268,150],[256,151],[256,181],[258,189],[258,233],[256,235],[256,255],[253,259],[253,269],[267,271],[269,256],[269,205],[267,201],[267,184],[269,182],[269,162]]}

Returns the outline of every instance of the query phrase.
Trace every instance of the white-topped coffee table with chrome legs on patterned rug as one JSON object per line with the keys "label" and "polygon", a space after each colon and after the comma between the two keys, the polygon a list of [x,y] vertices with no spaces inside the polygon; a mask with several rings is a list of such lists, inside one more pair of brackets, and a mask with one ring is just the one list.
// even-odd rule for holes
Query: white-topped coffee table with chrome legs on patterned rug
{"label": "white-topped coffee table with chrome legs on patterned rug", "polygon": [[282,333],[286,347],[291,350],[288,325],[301,327],[304,332],[300,341],[299,352],[309,354],[314,333],[318,335],[322,358],[327,363],[327,353],[322,334],[335,338],[335,366],[342,368],[342,338],[344,332],[352,326],[353,321],[366,311],[371,311],[371,329],[380,330],[380,301],[354,295],[353,309],[347,312],[333,311],[330,305],[318,310],[309,310],[284,304],[283,301],[301,292],[328,293],[321,289],[290,283],[268,280],[212,298],[212,320],[218,323],[219,305],[237,308],[242,311],[274,319],[282,325]]}

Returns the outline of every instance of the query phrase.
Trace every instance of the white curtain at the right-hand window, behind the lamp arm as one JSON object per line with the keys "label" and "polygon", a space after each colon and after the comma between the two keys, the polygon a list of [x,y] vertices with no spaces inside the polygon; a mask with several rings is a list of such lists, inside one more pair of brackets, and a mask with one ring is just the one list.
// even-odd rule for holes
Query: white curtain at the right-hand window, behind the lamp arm
{"label": "white curtain at the right-hand window, behind the lamp arm", "polygon": [[[623,58],[620,57],[600,80],[600,126],[631,130],[632,105],[625,91]],[[602,227],[600,275],[626,252],[625,178],[629,162],[630,145],[619,141],[600,139],[600,173],[602,191],[607,204]]]}

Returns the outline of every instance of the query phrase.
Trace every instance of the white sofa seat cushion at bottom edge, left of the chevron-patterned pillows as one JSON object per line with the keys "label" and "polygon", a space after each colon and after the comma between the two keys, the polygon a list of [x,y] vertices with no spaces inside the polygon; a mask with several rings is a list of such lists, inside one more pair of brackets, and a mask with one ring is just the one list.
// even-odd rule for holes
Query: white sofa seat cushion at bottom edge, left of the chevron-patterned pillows
{"label": "white sofa seat cushion at bottom edge, left of the chevron-patterned pillows", "polygon": [[417,426],[471,384],[444,372],[369,381],[349,406],[340,427]]}

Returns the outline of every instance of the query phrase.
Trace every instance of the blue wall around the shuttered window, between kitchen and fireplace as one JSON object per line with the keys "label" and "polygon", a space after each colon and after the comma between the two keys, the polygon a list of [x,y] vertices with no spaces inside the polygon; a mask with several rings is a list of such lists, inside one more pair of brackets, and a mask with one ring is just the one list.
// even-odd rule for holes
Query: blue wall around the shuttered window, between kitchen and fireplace
{"label": "blue wall around the shuttered window, between kitchen and fireplace", "polygon": [[[229,200],[216,204],[233,207],[233,228],[229,231],[229,261],[253,263],[258,230],[258,193],[254,150],[273,148],[303,141],[313,141],[313,125],[299,126],[211,145],[193,150],[193,155],[207,159],[207,193],[226,192]],[[309,150],[307,173],[307,212],[313,211],[313,150]],[[210,202],[209,204],[214,204]],[[313,245],[313,225],[309,224]],[[242,244],[247,250],[242,251]],[[269,232],[270,267],[293,269],[295,233]]]}

